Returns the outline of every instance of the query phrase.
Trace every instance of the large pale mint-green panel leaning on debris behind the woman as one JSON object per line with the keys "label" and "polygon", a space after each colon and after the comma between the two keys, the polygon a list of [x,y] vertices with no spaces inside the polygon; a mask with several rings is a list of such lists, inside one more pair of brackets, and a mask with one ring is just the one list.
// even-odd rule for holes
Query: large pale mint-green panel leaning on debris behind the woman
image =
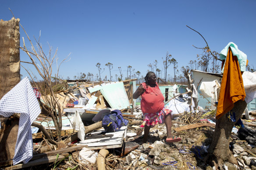
{"label": "large pale mint-green panel leaning on debris behind the woman", "polygon": [[124,89],[124,83],[106,83],[88,88],[90,93],[100,90],[103,97],[106,99],[111,108],[124,109],[130,108],[129,99]]}

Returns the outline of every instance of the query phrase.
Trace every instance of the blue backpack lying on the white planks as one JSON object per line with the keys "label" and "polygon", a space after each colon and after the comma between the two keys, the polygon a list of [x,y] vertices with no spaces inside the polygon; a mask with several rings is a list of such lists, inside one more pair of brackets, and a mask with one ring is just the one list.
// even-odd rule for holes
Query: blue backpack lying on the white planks
{"label": "blue backpack lying on the white planks", "polygon": [[128,125],[128,120],[124,119],[123,114],[119,110],[111,111],[105,114],[102,120],[102,126],[107,132],[116,132],[122,126]]}

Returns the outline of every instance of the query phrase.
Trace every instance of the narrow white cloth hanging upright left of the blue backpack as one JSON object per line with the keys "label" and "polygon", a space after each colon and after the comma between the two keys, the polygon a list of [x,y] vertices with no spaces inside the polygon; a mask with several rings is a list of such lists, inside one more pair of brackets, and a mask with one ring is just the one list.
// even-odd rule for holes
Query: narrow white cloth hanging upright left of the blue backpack
{"label": "narrow white cloth hanging upright left of the blue backpack", "polygon": [[78,110],[75,110],[75,115],[73,118],[73,126],[74,126],[75,130],[77,131],[78,138],[81,141],[84,141],[85,140],[85,127],[84,127],[84,124],[82,122],[82,119],[80,117]]}

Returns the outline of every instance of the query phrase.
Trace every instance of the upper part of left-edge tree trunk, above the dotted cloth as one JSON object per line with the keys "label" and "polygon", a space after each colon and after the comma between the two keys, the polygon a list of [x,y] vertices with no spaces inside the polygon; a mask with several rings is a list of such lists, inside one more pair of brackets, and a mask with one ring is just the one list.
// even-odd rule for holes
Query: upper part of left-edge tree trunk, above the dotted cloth
{"label": "upper part of left-edge tree trunk, above the dotted cloth", "polygon": [[0,21],[0,99],[20,82],[19,21]]}

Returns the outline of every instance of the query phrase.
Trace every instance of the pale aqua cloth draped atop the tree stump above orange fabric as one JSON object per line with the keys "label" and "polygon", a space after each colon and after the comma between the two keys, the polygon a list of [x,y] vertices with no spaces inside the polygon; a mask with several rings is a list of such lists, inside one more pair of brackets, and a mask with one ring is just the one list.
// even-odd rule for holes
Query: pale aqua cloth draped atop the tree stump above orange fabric
{"label": "pale aqua cloth draped atop the tree stump above orange fabric", "polygon": [[[246,63],[247,63],[247,56],[246,56],[245,53],[243,53],[242,51],[240,51],[238,49],[238,46],[234,42],[229,42],[228,45],[223,50],[221,50],[220,59],[221,60],[226,59],[226,56],[228,56],[228,50],[229,49],[231,49],[232,54],[234,56],[237,56],[237,59],[238,59],[238,62],[239,62],[239,67],[240,67],[241,71],[245,71]],[[224,73],[224,67],[221,70],[221,73]]]}

